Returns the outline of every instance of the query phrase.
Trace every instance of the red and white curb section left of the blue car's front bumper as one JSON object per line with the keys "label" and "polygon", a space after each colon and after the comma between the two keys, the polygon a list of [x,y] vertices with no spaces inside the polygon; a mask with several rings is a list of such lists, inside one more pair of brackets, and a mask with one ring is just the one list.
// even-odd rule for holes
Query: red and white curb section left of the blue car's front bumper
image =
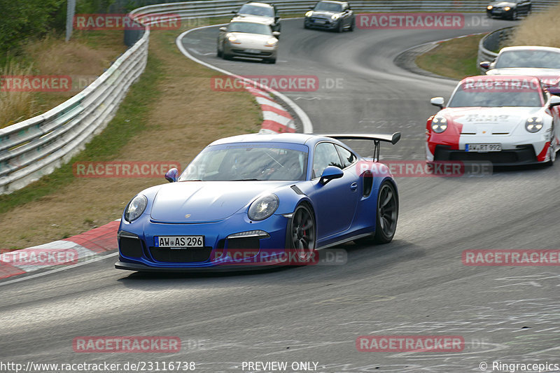
{"label": "red and white curb section left of the blue car's front bumper", "polygon": [[0,279],[74,265],[117,248],[120,220],[112,221],[77,236],[49,244],[6,251],[0,254]]}

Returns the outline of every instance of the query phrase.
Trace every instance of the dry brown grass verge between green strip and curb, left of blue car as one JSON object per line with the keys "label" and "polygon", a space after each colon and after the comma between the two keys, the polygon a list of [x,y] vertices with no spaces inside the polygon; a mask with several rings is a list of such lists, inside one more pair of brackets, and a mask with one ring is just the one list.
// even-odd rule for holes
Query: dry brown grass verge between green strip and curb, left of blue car
{"label": "dry brown grass verge between green strip and curb, left of blue car", "polygon": [[[134,130],[133,136],[113,155],[97,157],[93,148],[85,160],[172,160],[184,167],[214,139],[258,131],[260,108],[251,94],[211,90],[210,78],[216,73],[183,57],[175,47],[176,34],[152,32],[150,55],[153,57],[148,61],[148,69],[157,67],[161,73],[144,73],[128,95],[144,99],[135,105],[147,109],[146,115],[135,115],[137,108],[127,97],[116,118],[94,141],[95,146],[102,154],[104,136],[118,136],[119,126],[131,122],[142,122],[141,128]],[[151,86],[139,88],[137,85],[142,84],[146,74],[151,76]],[[64,169],[66,178],[71,176],[69,167]],[[137,192],[165,182],[162,176],[71,178],[68,183],[61,182],[55,192],[0,213],[0,248],[44,244],[108,223],[120,218],[125,204]],[[35,184],[27,188],[36,188]]]}

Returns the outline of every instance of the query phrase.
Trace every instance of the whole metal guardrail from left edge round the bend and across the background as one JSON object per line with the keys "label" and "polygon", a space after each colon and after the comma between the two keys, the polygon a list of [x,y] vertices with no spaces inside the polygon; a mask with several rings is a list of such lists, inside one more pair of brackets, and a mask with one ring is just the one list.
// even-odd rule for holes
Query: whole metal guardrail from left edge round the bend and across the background
{"label": "whole metal guardrail from left edge round the bend and across the background", "polygon": [[[133,10],[130,15],[179,16],[181,20],[231,15],[246,0],[207,0],[162,3]],[[303,13],[313,1],[274,0],[282,13]],[[350,1],[356,12],[456,11],[482,12],[486,0],[396,0]],[[542,10],[557,0],[533,1],[534,10]],[[161,17],[160,17],[161,19]],[[113,65],[85,90],[50,111],[0,129],[0,194],[25,187],[50,174],[83,149],[92,136],[113,118],[118,104],[141,75],[148,57],[150,32],[126,34],[134,43]],[[128,38],[127,38],[128,37]]]}

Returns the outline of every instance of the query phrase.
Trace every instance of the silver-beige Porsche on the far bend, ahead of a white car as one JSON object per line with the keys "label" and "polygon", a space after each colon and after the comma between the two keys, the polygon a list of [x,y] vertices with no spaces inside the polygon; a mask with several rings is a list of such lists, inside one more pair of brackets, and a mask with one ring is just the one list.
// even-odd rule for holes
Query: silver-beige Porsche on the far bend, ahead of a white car
{"label": "silver-beige Porsche on the far bend, ahead of a white car", "polygon": [[232,20],[227,27],[220,27],[216,55],[223,59],[260,58],[275,64],[279,35],[279,31],[272,31],[268,24]]}

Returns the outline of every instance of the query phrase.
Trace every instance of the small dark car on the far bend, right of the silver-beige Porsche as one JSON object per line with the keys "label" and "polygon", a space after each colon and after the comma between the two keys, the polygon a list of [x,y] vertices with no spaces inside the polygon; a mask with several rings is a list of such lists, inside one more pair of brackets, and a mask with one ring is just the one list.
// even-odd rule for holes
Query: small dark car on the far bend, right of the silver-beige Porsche
{"label": "small dark car on the far bend, right of the silver-beige Porsche", "polygon": [[356,15],[347,1],[319,1],[305,13],[303,27],[306,29],[328,29],[338,32],[356,26]]}

